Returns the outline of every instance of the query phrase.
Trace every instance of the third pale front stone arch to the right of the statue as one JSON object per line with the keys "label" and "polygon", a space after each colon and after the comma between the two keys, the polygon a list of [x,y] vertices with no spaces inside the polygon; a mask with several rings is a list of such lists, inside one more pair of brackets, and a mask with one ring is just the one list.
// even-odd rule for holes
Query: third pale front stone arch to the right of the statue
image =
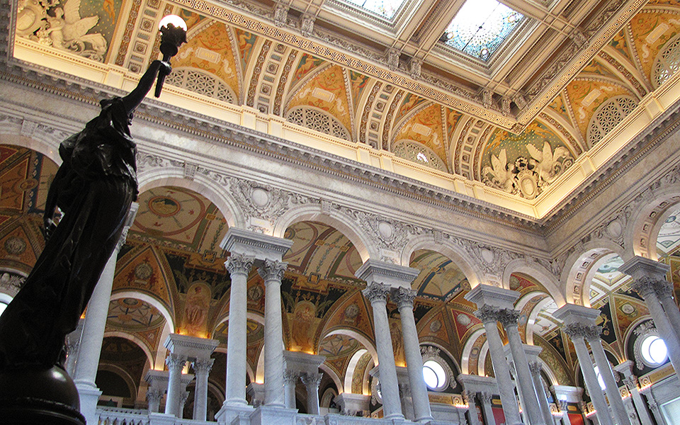
{"label": "third pale front stone arch to the right of the statue", "polygon": [[475,288],[475,286],[482,283],[483,273],[480,271],[480,268],[475,261],[467,255],[463,249],[455,246],[449,239],[442,238],[442,240],[437,240],[431,234],[422,234],[409,239],[409,242],[402,250],[402,266],[409,266],[412,254],[418,249],[431,249],[443,256],[447,256],[461,271],[463,271],[463,273],[465,273],[467,282],[470,283],[470,288]]}

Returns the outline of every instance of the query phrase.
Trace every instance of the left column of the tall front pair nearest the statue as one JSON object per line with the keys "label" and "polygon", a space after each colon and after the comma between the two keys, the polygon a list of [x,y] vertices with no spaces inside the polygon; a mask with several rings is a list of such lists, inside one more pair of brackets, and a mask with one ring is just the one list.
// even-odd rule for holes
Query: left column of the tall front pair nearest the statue
{"label": "left column of the tall front pair nearest the statue", "polygon": [[229,328],[227,329],[227,390],[225,405],[246,405],[246,313],[248,273],[254,258],[232,254],[225,262],[232,283],[229,288]]}

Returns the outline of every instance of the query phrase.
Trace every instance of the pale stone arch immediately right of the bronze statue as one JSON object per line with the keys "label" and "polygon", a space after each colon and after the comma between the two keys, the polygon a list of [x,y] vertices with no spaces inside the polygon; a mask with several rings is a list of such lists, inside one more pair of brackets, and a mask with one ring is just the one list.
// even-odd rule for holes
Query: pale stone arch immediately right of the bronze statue
{"label": "pale stone arch immediately right of the bronze statue", "polygon": [[[245,215],[237,203],[227,195],[224,186],[220,186],[201,174],[196,174],[193,179],[184,177],[184,169],[177,168],[157,168],[142,170],[137,174],[140,182],[140,193],[149,189],[162,186],[177,186],[189,189],[208,198],[210,202],[217,206],[222,215],[227,220],[229,227],[245,228]],[[220,241],[221,242],[221,241]]]}

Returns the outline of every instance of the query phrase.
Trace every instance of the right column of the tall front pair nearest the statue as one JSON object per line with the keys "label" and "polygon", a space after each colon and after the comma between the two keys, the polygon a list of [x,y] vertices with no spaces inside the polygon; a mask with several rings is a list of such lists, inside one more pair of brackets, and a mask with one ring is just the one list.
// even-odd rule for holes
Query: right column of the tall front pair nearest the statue
{"label": "right column of the tall front pair nearest the statue", "polygon": [[265,260],[264,279],[264,404],[285,407],[283,399],[283,319],[281,279],[288,263]]}

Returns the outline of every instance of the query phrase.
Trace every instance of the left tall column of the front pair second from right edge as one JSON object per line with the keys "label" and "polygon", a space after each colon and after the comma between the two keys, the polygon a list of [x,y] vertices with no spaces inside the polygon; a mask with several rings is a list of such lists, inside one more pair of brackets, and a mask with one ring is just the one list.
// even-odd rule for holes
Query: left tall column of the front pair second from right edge
{"label": "left tall column of the front pair second from right edge", "polygon": [[584,339],[584,336],[589,331],[592,331],[589,328],[591,327],[584,326],[582,324],[570,324],[565,325],[565,327],[562,329],[567,335],[570,336],[572,342],[574,343],[574,349],[576,350],[576,356],[579,359],[579,365],[581,366],[583,379],[585,381],[586,388],[590,393],[590,398],[595,407],[597,419],[600,422],[600,425],[614,425],[612,418],[609,415],[609,407],[607,406],[607,401],[604,398],[600,383],[597,382],[597,375],[595,374],[595,370],[590,360],[590,354],[588,353],[588,347],[586,346],[586,341]]}

